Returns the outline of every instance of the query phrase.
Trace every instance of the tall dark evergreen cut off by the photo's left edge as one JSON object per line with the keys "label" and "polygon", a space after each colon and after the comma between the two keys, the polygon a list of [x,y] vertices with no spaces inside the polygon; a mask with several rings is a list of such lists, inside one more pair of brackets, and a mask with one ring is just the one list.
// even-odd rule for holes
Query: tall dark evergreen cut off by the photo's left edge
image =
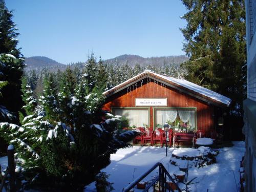
{"label": "tall dark evergreen cut off by the photo's left edge", "polygon": [[[12,22],[12,12],[6,8],[4,0],[0,0],[0,21],[0,54],[2,55],[0,81],[8,81],[8,84],[2,88],[3,97],[0,98],[0,105],[5,106],[17,117],[23,105],[20,78],[23,74],[24,59],[20,49],[16,48],[18,33]],[[11,121],[0,119],[2,122],[6,120]],[[15,122],[18,122],[17,118]]]}

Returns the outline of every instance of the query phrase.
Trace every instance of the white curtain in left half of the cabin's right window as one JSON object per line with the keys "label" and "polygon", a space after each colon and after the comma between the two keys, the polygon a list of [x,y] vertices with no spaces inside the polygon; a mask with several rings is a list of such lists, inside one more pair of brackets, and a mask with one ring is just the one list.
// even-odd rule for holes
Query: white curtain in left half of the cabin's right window
{"label": "white curtain in left half of the cabin's right window", "polygon": [[174,122],[177,118],[178,110],[157,110],[156,120],[157,124],[164,125],[167,121]]}

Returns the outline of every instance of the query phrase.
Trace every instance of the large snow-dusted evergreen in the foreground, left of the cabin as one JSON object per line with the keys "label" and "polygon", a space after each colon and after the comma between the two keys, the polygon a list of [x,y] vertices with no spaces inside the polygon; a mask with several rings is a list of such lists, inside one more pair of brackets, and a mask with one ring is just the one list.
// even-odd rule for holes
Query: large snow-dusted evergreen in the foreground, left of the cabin
{"label": "large snow-dusted evergreen in the foreground, left of the cabin", "polygon": [[[20,127],[0,123],[0,134],[15,145],[22,160],[18,164],[31,187],[82,191],[109,165],[110,155],[129,146],[127,142],[135,136],[131,131],[117,132],[118,118],[102,120],[103,116],[108,118],[101,110],[103,95],[96,89],[91,92],[87,80],[85,76],[72,95],[64,87],[58,92],[55,76],[50,73],[42,106],[36,106]],[[26,101],[25,109],[33,110]]]}

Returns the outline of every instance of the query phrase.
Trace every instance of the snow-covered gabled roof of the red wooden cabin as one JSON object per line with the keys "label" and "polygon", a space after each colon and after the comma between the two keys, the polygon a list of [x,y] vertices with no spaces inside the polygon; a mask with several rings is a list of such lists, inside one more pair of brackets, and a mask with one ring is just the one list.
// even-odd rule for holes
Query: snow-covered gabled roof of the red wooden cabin
{"label": "snow-covered gabled roof of the red wooden cabin", "polygon": [[103,95],[106,97],[109,97],[146,77],[150,77],[154,80],[157,80],[161,83],[166,84],[169,87],[177,89],[181,92],[185,92],[188,95],[194,96],[208,103],[212,103],[215,105],[228,106],[231,102],[230,98],[227,98],[219,93],[216,93],[214,91],[198,86],[193,82],[187,81],[182,78],[167,77],[164,75],[157,74],[150,70],[145,70],[143,73],[140,73],[134,76],[133,78],[128,79],[122,82],[121,84],[118,84],[114,88],[103,92]]}

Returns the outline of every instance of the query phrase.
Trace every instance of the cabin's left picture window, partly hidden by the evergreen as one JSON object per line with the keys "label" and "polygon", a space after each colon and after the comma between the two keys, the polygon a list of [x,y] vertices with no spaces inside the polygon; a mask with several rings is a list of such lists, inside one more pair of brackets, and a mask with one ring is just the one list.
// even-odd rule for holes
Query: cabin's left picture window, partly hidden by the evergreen
{"label": "cabin's left picture window, partly hidden by the evergreen", "polygon": [[113,108],[112,113],[126,117],[131,127],[145,127],[149,125],[148,109]]}

